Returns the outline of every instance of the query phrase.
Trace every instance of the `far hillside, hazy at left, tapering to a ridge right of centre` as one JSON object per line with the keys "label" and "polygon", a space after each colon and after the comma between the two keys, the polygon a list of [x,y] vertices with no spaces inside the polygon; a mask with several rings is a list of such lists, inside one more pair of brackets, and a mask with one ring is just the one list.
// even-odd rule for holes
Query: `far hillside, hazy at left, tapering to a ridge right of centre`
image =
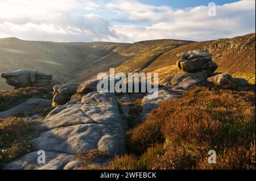
{"label": "far hillside, hazy at left, tapering to a ridge right of centre", "polygon": [[[14,37],[0,39],[0,72],[35,69],[53,74],[61,83],[81,83],[86,79],[115,68],[125,61],[146,67],[167,49],[189,41],[153,40],[127,43],[53,43],[25,41]],[[140,60],[140,61],[139,61]],[[133,68],[129,69],[133,70]],[[0,89],[10,89],[0,79]]]}

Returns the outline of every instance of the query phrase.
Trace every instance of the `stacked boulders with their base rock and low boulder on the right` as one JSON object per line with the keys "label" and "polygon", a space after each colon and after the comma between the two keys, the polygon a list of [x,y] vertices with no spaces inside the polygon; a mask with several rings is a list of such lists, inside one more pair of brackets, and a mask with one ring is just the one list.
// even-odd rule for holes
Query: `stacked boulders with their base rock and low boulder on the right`
{"label": "stacked boulders with their base rock and low boulder on the right", "polygon": [[191,50],[177,54],[177,57],[181,57],[176,65],[182,71],[171,79],[171,91],[184,92],[195,85],[206,86],[209,83],[221,86],[234,84],[238,87],[249,85],[245,79],[233,78],[230,73],[214,73],[218,65],[205,50]]}

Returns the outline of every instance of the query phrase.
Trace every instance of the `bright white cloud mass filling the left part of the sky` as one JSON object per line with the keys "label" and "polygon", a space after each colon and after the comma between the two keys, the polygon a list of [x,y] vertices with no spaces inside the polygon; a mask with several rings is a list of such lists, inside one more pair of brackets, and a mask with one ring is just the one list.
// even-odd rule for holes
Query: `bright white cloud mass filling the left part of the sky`
{"label": "bright white cloud mass filling the left part of the sky", "polygon": [[47,41],[101,41],[115,37],[108,20],[93,14],[76,14],[76,10],[98,6],[91,1],[3,0],[0,37]]}

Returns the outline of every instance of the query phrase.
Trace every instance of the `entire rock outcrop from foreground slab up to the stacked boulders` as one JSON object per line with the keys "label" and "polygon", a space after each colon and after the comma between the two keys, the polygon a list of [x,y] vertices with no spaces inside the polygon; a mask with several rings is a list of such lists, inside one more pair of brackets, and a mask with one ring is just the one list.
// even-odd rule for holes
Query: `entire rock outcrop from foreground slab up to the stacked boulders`
{"label": "entire rock outcrop from foreground slab up to the stacked boulders", "polygon": [[[205,86],[209,82],[220,85],[229,82],[239,85],[247,83],[244,79],[232,78],[229,73],[214,73],[217,65],[212,62],[211,55],[203,50],[193,50],[178,56],[182,59],[177,62],[177,66],[184,71],[177,73],[173,78],[167,78],[163,82],[165,85],[159,86],[159,90],[154,93],[147,92],[138,96],[138,94],[98,92],[99,80],[85,82],[80,86],[76,84],[55,86],[53,106],[56,108],[38,125],[38,137],[31,141],[34,152],[7,164],[5,169],[77,169],[80,161],[76,158],[76,154],[88,150],[105,153],[97,162],[105,165],[114,155],[126,152],[124,133],[126,125],[119,110],[123,116],[129,116],[129,110],[135,105],[136,98],[146,95],[139,105],[140,108],[142,107],[142,112],[138,115],[139,120],[141,118],[144,120],[164,100],[179,99],[182,96],[180,93],[188,91],[195,85]],[[139,87],[141,84],[138,82]],[[141,90],[139,92],[141,93]],[[37,163],[37,150],[46,151],[46,164]]]}

